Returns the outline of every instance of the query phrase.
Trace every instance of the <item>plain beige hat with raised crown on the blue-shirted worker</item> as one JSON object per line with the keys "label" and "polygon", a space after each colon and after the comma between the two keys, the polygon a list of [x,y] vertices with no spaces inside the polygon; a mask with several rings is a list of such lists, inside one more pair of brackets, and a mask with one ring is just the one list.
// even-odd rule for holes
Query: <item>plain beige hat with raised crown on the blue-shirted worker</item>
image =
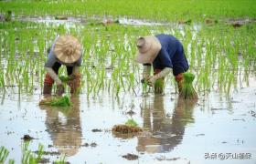
{"label": "plain beige hat with raised crown on the blue-shirted worker", "polygon": [[137,40],[136,61],[142,64],[153,63],[161,50],[161,44],[155,36],[144,36]]}

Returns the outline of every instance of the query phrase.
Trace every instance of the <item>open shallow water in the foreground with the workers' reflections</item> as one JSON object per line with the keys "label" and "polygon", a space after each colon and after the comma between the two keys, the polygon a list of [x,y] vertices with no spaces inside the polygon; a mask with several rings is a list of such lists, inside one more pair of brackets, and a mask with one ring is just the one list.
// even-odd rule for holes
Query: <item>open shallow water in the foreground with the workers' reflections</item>
{"label": "open shallow water in the foreground with the workers' reflections", "polygon": [[[65,153],[71,163],[255,163],[256,85],[252,80],[251,87],[231,97],[210,93],[197,101],[174,93],[119,98],[82,94],[71,98],[72,108],[48,108],[37,105],[39,93],[2,94],[0,145],[10,150],[9,157],[16,163],[26,134],[35,138],[29,148],[35,151],[43,144],[48,152],[44,158],[50,161]],[[113,135],[112,127],[128,118],[144,132],[128,138]],[[124,159],[128,153],[138,159]],[[250,159],[228,158],[241,153],[248,153]],[[222,159],[223,154],[227,159]]]}

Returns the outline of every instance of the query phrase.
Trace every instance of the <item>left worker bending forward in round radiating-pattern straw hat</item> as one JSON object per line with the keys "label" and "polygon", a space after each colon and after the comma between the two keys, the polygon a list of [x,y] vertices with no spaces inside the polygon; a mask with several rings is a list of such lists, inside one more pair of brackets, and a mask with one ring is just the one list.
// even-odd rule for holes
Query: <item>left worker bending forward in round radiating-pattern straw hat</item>
{"label": "left worker bending forward in round radiating-pattern straw hat", "polygon": [[54,82],[57,84],[56,94],[61,96],[64,93],[63,83],[58,77],[61,65],[67,67],[70,92],[77,93],[80,88],[81,45],[74,36],[59,36],[51,46],[45,64],[44,95],[51,94]]}

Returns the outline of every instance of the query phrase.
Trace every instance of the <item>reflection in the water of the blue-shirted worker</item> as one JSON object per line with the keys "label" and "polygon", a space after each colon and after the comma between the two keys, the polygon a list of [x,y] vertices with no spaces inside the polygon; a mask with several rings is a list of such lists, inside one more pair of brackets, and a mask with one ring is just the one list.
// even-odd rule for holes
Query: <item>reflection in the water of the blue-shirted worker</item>
{"label": "reflection in the water of the blue-shirted worker", "polygon": [[194,122],[192,111],[196,103],[197,100],[178,98],[171,118],[166,117],[163,97],[155,96],[153,106],[144,104],[147,132],[138,137],[137,150],[155,153],[174,149],[182,141],[187,124]]}

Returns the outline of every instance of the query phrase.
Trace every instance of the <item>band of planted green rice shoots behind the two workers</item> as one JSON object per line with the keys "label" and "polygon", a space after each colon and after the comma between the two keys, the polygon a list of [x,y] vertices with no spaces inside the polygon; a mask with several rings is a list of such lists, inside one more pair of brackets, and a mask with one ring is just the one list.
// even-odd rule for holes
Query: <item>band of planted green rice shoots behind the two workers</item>
{"label": "band of planted green rice shoots behind the two workers", "polygon": [[[29,29],[29,30],[28,30]],[[11,22],[2,25],[1,92],[33,94],[41,89],[47,49],[61,34],[80,36],[83,45],[82,88],[86,94],[120,91],[138,94],[141,67],[134,62],[137,36],[170,34],[186,48],[190,70],[200,92],[218,90],[229,95],[255,75],[255,25],[48,25]],[[62,71],[64,72],[64,69]],[[171,77],[169,79],[172,79]],[[169,84],[172,84],[170,81]],[[240,85],[240,86],[238,86]],[[175,87],[175,83],[171,85]]]}

